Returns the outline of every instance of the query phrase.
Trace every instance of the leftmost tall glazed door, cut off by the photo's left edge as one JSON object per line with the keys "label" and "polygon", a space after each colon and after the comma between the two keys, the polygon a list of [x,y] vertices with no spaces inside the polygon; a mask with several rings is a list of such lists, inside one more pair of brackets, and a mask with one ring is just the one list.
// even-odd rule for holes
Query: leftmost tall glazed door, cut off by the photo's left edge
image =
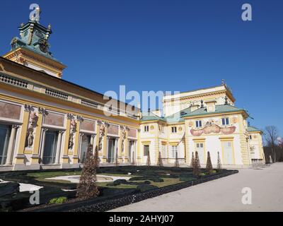
{"label": "leftmost tall glazed door, cut off by the photo's left edge", "polygon": [[0,165],[5,165],[11,127],[0,124]]}

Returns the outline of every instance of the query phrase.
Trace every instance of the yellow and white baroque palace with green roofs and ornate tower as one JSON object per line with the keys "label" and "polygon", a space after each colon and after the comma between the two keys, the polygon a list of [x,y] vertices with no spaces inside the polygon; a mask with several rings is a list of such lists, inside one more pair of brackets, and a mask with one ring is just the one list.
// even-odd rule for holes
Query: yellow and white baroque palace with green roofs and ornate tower
{"label": "yellow and white baroque palace with green roofs and ornate tower", "polygon": [[196,151],[202,166],[208,151],[214,166],[218,156],[223,167],[265,162],[262,131],[248,125],[225,83],[166,95],[163,117],[115,109],[103,94],[62,78],[50,25],[30,20],[19,30],[0,57],[0,171],[81,167],[90,145],[101,165],[146,165],[148,157],[156,165],[161,156],[163,165],[188,166]]}

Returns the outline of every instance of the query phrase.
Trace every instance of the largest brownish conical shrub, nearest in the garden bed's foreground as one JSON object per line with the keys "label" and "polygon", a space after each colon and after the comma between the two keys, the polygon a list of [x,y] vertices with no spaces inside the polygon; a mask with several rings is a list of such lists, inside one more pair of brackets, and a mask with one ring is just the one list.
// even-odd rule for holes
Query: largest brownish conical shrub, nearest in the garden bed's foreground
{"label": "largest brownish conical shrub, nearest in the garden bed's foreground", "polygon": [[86,161],[83,165],[81,178],[76,187],[76,196],[81,199],[87,199],[96,197],[98,194],[99,191],[96,186],[96,160],[93,157],[93,150],[90,145],[86,153]]}

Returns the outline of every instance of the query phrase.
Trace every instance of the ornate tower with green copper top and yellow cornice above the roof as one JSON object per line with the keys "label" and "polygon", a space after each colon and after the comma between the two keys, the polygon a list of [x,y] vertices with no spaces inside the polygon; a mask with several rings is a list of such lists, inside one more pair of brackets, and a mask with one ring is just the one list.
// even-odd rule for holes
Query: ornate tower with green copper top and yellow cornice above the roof
{"label": "ornate tower with green copper top and yellow cornice above the roof", "polygon": [[13,38],[11,51],[3,57],[37,71],[44,71],[51,76],[62,78],[62,71],[66,66],[55,59],[50,52],[51,25],[45,28],[40,25],[39,18],[32,18],[28,23],[22,23],[18,29],[20,37]]}

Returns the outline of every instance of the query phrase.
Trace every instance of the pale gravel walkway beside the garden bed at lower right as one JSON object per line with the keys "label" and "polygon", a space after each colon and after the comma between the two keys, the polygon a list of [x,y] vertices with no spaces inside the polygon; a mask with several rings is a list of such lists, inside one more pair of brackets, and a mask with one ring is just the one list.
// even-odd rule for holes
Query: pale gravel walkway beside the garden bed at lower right
{"label": "pale gravel walkway beside the garden bed at lower right", "polygon": [[[242,189],[252,189],[252,205],[243,205]],[[283,163],[146,199],[112,211],[283,211]]]}

